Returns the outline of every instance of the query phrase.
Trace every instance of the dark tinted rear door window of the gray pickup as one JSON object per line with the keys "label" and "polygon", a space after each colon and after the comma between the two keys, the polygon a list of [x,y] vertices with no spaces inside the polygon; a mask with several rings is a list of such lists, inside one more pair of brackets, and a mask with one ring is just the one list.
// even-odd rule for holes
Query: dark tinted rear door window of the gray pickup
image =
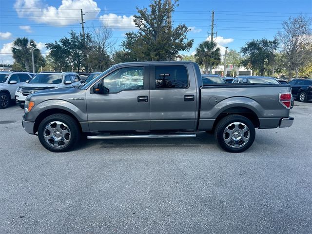
{"label": "dark tinted rear door window of the gray pickup", "polygon": [[155,66],[156,89],[183,89],[189,86],[185,66]]}

